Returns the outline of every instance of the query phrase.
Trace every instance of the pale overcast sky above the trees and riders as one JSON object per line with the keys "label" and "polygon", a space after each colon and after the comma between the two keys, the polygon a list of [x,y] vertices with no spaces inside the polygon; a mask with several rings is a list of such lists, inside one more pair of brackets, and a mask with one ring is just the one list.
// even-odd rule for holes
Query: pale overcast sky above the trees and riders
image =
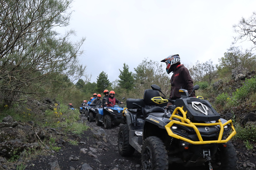
{"label": "pale overcast sky above the trees and riders", "polygon": [[74,0],[71,6],[68,29],[86,37],[79,60],[91,82],[102,71],[113,82],[124,63],[134,72],[145,58],[160,62],[171,54],[185,66],[217,64],[236,36],[233,25],[256,12],[255,0]]}

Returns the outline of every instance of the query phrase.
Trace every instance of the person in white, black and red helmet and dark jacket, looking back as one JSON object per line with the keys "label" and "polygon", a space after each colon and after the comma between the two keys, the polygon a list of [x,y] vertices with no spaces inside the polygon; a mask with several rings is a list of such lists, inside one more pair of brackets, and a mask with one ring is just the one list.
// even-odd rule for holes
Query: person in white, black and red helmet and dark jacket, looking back
{"label": "person in white, black and red helmet and dark jacket, looking back", "polygon": [[[181,97],[179,89],[186,89],[190,94],[193,91],[193,80],[190,77],[188,69],[183,64],[180,64],[179,54],[170,55],[161,62],[166,63],[167,74],[173,72],[170,99],[175,100]],[[195,97],[195,92],[190,97]],[[172,103],[168,103],[167,107],[169,105],[172,105]]]}

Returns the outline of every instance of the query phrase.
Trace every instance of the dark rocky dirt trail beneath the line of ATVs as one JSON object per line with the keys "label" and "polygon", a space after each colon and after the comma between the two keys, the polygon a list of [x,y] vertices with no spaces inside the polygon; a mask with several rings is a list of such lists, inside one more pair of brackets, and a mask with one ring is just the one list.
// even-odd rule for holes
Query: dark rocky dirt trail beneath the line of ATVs
{"label": "dark rocky dirt trail beneath the line of ATVs", "polygon": [[[84,115],[81,115],[90,130],[85,131],[81,136],[68,134],[68,138],[78,141],[78,145],[71,145],[69,142],[60,140],[58,152],[45,149],[48,156],[38,156],[26,163],[29,170],[123,170],[141,169],[140,153],[134,152],[131,157],[122,157],[118,154],[117,134],[119,126],[112,129],[104,129],[97,126],[95,122],[88,122]],[[58,131],[58,130],[57,130]],[[233,141],[237,151],[238,164],[234,170],[256,169],[256,146],[247,150],[242,141]],[[23,163],[25,164],[25,163]],[[13,166],[16,169],[16,166]],[[0,166],[0,169],[12,169]],[[185,168],[171,165],[170,170],[209,170],[207,167]],[[215,169],[214,169],[215,170]]]}

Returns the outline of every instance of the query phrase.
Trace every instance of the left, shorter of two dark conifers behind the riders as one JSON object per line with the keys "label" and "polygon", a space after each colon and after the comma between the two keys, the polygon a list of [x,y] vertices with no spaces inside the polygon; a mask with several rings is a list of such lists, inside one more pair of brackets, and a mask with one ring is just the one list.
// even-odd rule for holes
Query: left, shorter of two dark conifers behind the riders
{"label": "left, shorter of two dark conifers behind the riders", "polygon": [[96,92],[101,93],[105,89],[111,86],[110,81],[108,80],[108,74],[102,71],[97,78],[97,88],[95,89]]}

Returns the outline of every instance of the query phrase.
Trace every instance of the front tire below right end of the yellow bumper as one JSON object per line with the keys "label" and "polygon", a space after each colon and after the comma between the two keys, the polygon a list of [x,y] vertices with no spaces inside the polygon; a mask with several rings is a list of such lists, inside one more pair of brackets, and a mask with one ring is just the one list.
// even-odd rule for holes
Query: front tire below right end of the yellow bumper
{"label": "front tire below right end of the yellow bumper", "polygon": [[236,150],[233,144],[227,142],[227,147],[220,145],[216,154],[214,155],[214,162],[212,162],[213,169],[219,168],[221,170],[234,170],[236,169],[237,157]]}

